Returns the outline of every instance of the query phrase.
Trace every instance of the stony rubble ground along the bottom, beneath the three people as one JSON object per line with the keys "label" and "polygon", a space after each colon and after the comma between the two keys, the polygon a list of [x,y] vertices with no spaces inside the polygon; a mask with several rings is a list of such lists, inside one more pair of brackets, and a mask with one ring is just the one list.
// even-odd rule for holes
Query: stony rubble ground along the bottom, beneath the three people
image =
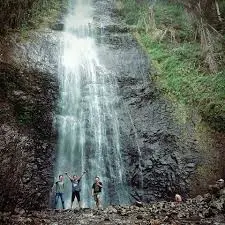
{"label": "stony rubble ground along the bottom, beneath the three people", "polygon": [[225,189],[218,196],[205,194],[186,202],[157,202],[148,205],[109,206],[102,210],[64,211],[16,210],[1,213],[0,224],[149,224],[149,225],[225,225]]}

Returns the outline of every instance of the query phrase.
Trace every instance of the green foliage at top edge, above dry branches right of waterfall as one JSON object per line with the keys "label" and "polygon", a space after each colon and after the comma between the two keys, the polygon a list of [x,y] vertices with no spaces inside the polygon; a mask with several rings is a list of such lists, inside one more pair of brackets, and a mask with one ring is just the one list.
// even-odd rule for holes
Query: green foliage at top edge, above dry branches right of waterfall
{"label": "green foliage at top edge, above dry branches right of waterfall", "polygon": [[[136,0],[124,0],[122,4],[123,7],[119,10],[121,16],[128,25],[135,25],[139,31],[146,30],[146,25],[153,22],[162,31],[176,29],[176,37],[179,40],[193,39],[192,23],[180,4],[158,1],[157,4],[150,5],[146,0],[141,3]],[[151,15],[151,7],[154,15]]]}

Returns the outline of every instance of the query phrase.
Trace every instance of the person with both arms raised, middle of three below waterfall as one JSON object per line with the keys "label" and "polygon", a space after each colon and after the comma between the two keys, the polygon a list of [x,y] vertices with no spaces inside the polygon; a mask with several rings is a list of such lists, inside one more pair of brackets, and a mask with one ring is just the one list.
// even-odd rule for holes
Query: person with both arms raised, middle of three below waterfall
{"label": "person with both arms raised, middle of three below waterfall", "polygon": [[71,196],[71,209],[73,208],[73,202],[75,197],[77,198],[78,204],[79,204],[79,208],[81,209],[81,202],[80,202],[80,191],[81,191],[81,187],[80,187],[80,180],[83,177],[83,175],[86,173],[86,171],[84,171],[82,173],[82,175],[76,176],[70,176],[68,175],[68,173],[66,172],[65,174],[67,175],[67,177],[70,179],[71,183],[72,183],[72,196]]}

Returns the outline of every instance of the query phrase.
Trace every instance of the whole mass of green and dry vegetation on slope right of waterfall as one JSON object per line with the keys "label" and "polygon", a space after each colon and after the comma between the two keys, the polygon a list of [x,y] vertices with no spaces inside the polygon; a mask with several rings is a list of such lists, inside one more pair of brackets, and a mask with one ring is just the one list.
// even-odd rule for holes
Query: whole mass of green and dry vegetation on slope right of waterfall
{"label": "whole mass of green and dry vegetation on slope right of waterfall", "polygon": [[136,26],[164,93],[225,130],[225,2],[121,0],[117,9]]}

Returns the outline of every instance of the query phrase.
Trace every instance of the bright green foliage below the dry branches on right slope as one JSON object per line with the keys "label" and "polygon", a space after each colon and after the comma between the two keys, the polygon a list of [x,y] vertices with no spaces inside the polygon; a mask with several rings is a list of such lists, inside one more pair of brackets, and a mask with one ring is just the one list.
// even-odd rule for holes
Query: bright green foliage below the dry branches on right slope
{"label": "bright green foliage below the dry branches on right slope", "polygon": [[156,81],[168,96],[187,106],[194,106],[205,119],[225,115],[225,70],[217,74],[199,69],[200,46],[183,43],[177,46],[157,43],[142,33],[140,41],[146,47],[160,73]]}

